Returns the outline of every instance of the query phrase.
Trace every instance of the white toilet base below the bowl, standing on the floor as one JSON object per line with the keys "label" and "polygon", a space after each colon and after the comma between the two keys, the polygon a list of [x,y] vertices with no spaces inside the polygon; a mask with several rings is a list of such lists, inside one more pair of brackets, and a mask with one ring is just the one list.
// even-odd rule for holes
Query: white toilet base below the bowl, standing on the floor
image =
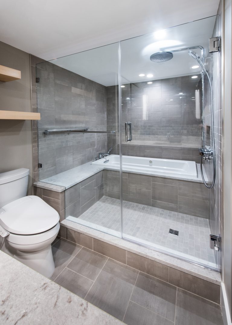
{"label": "white toilet base below the bowl, standing on the floor", "polygon": [[46,278],[50,278],[55,270],[51,244],[40,251],[21,252],[10,247],[5,240],[1,250],[17,259],[19,262],[31,267]]}

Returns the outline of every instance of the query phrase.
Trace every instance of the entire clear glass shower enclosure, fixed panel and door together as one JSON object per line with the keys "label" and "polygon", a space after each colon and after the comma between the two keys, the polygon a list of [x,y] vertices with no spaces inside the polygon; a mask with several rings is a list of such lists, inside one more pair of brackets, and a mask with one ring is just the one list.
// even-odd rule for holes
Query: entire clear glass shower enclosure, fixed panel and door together
{"label": "entire clear glass shower enclosure, fixed panel and door together", "polygon": [[[209,17],[37,64],[40,181],[65,189],[68,220],[218,269],[220,62],[208,53],[218,26]],[[209,86],[188,48],[214,88],[210,190],[198,150],[212,142]],[[162,51],[173,58],[150,60]],[[204,173],[210,182],[211,162]]]}

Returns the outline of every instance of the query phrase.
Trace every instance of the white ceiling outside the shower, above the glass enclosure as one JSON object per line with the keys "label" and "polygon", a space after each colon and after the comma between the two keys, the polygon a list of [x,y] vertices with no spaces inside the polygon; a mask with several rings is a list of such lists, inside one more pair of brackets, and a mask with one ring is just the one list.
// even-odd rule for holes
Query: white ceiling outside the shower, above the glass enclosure
{"label": "white ceiling outside the shower, above the glass enclosure", "polygon": [[219,0],[2,0],[0,40],[50,60],[209,17]]}

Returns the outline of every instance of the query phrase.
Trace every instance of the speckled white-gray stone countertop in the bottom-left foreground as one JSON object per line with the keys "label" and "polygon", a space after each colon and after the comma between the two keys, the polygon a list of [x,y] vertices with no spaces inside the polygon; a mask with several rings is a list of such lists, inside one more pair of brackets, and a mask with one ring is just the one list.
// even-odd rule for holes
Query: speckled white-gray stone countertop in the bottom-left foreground
{"label": "speckled white-gray stone countertop in the bottom-left foreground", "polygon": [[2,251],[0,278],[0,324],[123,324]]}

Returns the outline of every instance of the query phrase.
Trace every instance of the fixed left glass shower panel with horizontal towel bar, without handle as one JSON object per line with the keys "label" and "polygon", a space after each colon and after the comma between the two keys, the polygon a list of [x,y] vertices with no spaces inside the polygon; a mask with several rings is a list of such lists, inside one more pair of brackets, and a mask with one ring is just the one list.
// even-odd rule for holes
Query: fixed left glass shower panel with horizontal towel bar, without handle
{"label": "fixed left glass shower panel with horizontal towel bar, without handle", "polygon": [[119,168],[92,165],[119,147],[118,43],[40,63],[37,78],[40,181],[65,188],[67,219],[121,237]]}

